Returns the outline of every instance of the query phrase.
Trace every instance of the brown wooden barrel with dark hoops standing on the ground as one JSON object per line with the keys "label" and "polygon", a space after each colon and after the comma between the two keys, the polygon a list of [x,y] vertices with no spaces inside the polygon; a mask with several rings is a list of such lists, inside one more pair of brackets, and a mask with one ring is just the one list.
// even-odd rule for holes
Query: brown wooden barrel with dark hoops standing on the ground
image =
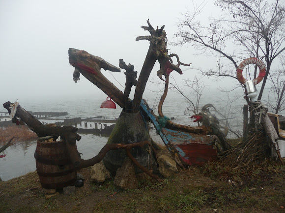
{"label": "brown wooden barrel with dark hoops standing on the ground", "polygon": [[43,188],[62,189],[77,181],[77,170],[71,163],[65,141],[37,141],[34,158]]}

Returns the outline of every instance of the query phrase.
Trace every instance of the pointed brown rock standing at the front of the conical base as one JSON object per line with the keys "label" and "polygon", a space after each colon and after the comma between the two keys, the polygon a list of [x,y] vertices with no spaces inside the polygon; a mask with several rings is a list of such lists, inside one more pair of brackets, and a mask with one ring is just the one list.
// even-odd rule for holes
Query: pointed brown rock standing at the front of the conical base
{"label": "pointed brown rock standing at the front of the conical base", "polygon": [[130,158],[125,158],[123,165],[117,169],[114,185],[121,189],[136,189],[139,186],[135,167]]}

